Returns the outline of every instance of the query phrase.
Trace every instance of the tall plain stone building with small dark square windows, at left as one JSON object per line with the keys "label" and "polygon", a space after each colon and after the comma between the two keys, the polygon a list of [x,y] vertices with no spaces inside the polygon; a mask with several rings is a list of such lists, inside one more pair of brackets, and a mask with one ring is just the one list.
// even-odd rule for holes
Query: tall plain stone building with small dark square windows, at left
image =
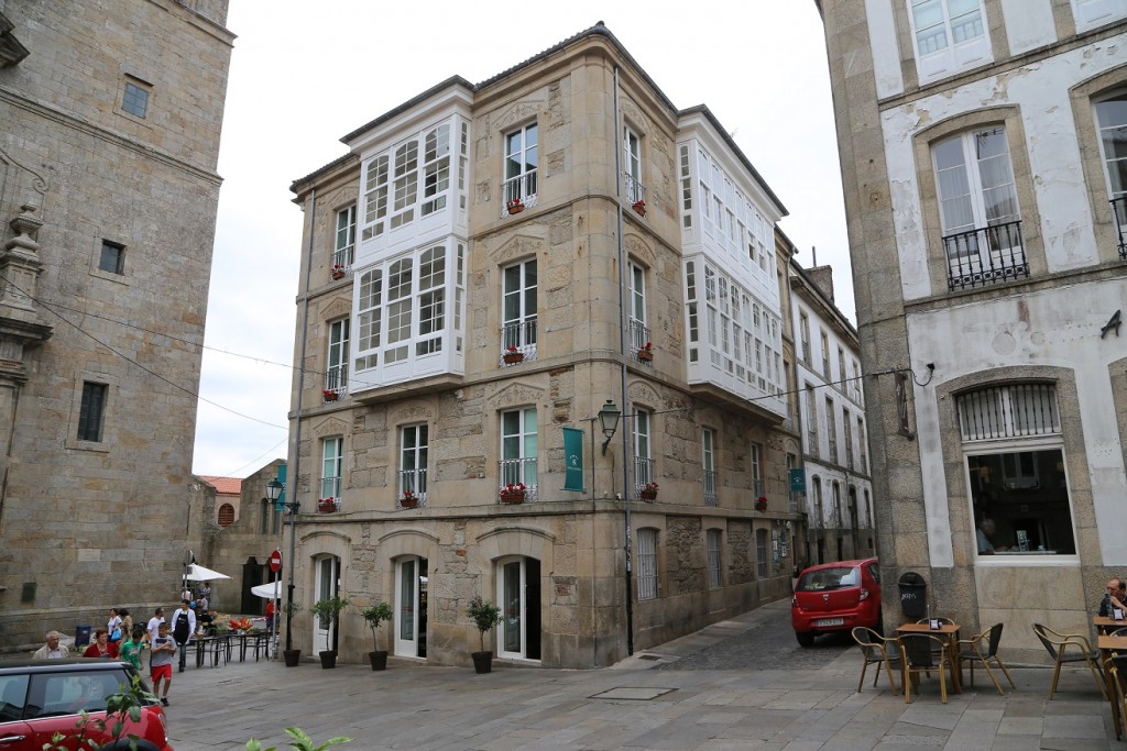
{"label": "tall plain stone building with small dark square windows, at left", "polygon": [[6,649],[168,602],[198,544],[225,18],[227,0],[0,6]]}

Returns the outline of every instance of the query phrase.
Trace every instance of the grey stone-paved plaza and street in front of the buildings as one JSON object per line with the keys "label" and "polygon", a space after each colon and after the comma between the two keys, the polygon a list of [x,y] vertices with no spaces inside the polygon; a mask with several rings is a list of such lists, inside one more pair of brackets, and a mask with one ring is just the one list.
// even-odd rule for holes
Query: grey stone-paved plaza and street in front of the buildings
{"label": "grey stone-paved plaza and street in front of the buildings", "polygon": [[[1005,696],[979,673],[977,688],[941,704],[933,677],[905,704],[884,677],[857,691],[855,650],[791,645],[788,607],[769,605],[601,670],[476,676],[396,660],[383,672],[265,660],[189,668],[174,676],[172,745],[232,751],[257,737],[287,748],[283,728],[296,725],[318,741],[354,739],[341,751],[1127,751],[1086,670],[1066,670],[1053,701],[1050,670],[1011,668],[1018,688]],[[771,647],[772,634],[787,647]],[[793,667],[788,654],[815,665]]]}

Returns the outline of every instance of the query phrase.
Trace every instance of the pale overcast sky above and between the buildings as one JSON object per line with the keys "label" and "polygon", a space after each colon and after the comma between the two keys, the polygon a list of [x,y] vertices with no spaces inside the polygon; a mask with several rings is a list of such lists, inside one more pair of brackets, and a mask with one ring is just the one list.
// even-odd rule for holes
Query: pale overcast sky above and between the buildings
{"label": "pale overcast sky above and between the buildings", "polygon": [[[678,8],[681,12],[675,12]],[[845,212],[813,0],[231,0],[231,55],[193,471],[286,457],[303,215],[291,182],[340,137],[440,81],[483,81],[602,20],[678,108],[707,105],[779,196],[802,266],[834,267],[851,319]]]}

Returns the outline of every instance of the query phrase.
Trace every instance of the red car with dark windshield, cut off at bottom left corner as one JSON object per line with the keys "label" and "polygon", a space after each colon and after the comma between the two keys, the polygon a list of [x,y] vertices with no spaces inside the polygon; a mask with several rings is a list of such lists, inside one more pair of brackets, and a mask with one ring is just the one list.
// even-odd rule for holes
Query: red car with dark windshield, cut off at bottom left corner
{"label": "red car with dark windshield, cut off at bottom left corner", "polygon": [[[0,662],[0,749],[3,751],[42,751],[62,733],[63,748],[78,749],[77,723],[81,712],[91,718],[105,719],[106,697],[128,686],[136,671],[117,660],[15,660]],[[142,686],[148,691],[148,686]],[[116,719],[116,716],[115,716]],[[168,742],[168,724],[159,704],[141,707],[137,722],[125,717],[122,739],[113,743],[113,724],[105,731],[88,723],[86,737],[98,748],[128,748],[135,735],[140,751],[172,751]],[[108,745],[103,745],[108,744]],[[54,748],[52,745],[52,748]],[[82,749],[88,748],[82,745]]]}

